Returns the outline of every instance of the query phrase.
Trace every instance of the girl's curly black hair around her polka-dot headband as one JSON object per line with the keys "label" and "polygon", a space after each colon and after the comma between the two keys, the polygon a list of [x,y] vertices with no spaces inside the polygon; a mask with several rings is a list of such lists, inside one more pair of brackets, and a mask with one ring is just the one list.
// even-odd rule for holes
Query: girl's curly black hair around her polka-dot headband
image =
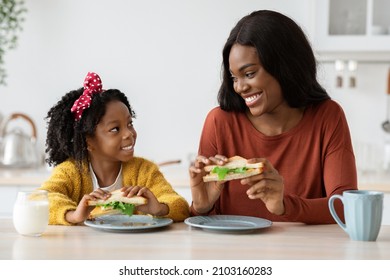
{"label": "girl's curly black hair around her polka-dot headband", "polygon": [[71,158],[81,168],[82,162],[88,160],[87,137],[93,137],[97,124],[106,112],[107,103],[120,101],[129,109],[132,118],[135,112],[126,95],[109,89],[92,96],[91,105],[85,109],[80,120],[75,121],[71,112],[73,103],[83,93],[83,88],[65,94],[47,113],[46,162],[56,166]]}

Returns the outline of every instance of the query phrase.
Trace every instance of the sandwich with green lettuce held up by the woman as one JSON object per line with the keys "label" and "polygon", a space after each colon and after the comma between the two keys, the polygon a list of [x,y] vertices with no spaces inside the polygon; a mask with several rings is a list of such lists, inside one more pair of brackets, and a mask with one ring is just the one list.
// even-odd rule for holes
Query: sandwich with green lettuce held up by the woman
{"label": "sandwich with green lettuce held up by the woman", "polygon": [[264,164],[262,162],[248,163],[247,159],[234,156],[229,158],[225,165],[206,165],[204,170],[208,173],[206,176],[203,176],[203,181],[212,182],[243,179],[262,173],[263,168]]}

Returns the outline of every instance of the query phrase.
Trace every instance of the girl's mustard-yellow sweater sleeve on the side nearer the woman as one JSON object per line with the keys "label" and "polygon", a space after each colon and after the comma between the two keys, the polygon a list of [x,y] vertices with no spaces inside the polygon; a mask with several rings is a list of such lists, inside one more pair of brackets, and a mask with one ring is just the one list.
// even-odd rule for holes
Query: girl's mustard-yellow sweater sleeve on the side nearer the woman
{"label": "girl's mustard-yellow sweater sleeve on the side nearer the woman", "polygon": [[[126,171],[125,176],[128,177],[134,171],[134,168],[130,172]],[[148,187],[160,203],[168,206],[169,213],[165,217],[174,222],[182,222],[189,217],[187,201],[172,188],[156,164],[143,160],[134,175],[138,177],[136,185]]]}

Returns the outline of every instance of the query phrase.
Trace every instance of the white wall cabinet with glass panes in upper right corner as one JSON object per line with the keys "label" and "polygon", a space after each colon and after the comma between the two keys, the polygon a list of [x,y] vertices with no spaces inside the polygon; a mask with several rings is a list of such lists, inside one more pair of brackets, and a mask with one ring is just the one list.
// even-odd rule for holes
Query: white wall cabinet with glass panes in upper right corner
{"label": "white wall cabinet with glass panes in upper right corner", "polygon": [[316,0],[313,45],[329,54],[390,60],[390,1]]}

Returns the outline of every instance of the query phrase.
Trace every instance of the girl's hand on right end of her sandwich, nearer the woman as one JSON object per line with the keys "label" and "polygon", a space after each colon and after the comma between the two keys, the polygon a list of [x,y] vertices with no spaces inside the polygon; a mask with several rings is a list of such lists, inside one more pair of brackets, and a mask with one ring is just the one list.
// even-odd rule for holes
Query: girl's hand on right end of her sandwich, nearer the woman
{"label": "girl's hand on right end of her sandwich, nearer the woman", "polygon": [[148,199],[148,203],[137,206],[137,210],[151,214],[153,216],[165,216],[169,213],[168,205],[158,202],[155,195],[147,187],[123,187],[121,189],[124,196],[143,196]]}

